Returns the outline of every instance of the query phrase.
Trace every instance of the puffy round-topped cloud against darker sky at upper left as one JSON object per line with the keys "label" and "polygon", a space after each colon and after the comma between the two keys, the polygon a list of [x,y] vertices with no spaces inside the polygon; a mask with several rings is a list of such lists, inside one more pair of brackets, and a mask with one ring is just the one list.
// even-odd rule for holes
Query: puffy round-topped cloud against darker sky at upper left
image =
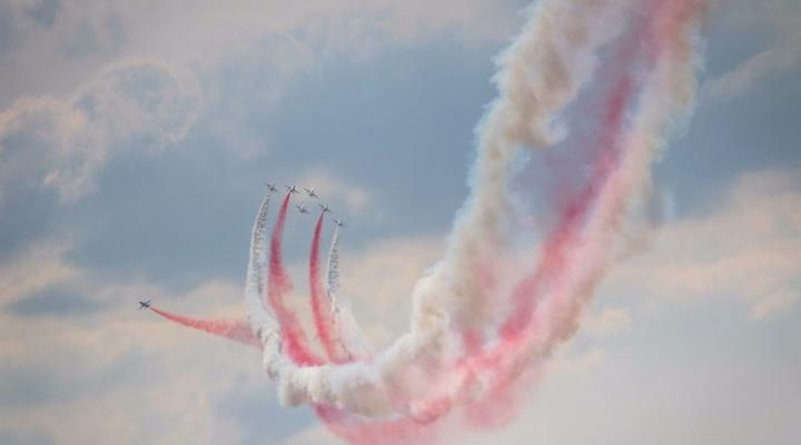
{"label": "puffy round-topped cloud against darker sky at upper left", "polygon": [[[103,69],[68,99],[17,101],[0,113],[0,187],[52,188],[62,201],[90,191],[116,151],[180,140],[200,107],[191,76],[152,61]],[[2,199],[2,196],[0,196]]]}

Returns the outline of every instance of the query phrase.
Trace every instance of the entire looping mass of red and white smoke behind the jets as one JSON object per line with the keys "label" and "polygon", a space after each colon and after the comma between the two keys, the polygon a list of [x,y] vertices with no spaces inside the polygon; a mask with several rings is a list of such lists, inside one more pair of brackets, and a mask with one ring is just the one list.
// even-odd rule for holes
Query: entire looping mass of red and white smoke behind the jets
{"label": "entire looping mass of red and white smoke behind the jets", "polygon": [[[415,286],[409,332],[383,353],[369,352],[337,297],[338,228],[324,298],[323,216],[312,244],[309,287],[328,359],[310,349],[297,315],[284,301],[291,288],[281,259],[290,194],[273,230],[269,264],[264,248],[268,198],[254,224],[245,290],[253,332],[244,324],[154,310],[215,335],[263,344],[265,369],[277,380],[281,402],[315,406],[326,425],[352,443],[431,441],[434,429],[426,425],[456,407],[473,407],[468,415],[486,419],[482,407],[504,400],[526,372],[541,369],[576,330],[610,266],[630,202],[647,188],[650,166],[669,130],[692,106],[693,39],[704,6],[703,0],[542,0],[532,8],[527,24],[498,59],[498,99],[476,129],[471,191],[444,258]],[[633,18],[640,24],[621,33]],[[510,276],[514,257],[507,191],[513,167],[526,149],[551,147],[567,135],[560,113],[593,77],[599,48],[615,39],[622,49],[604,60],[614,68],[611,87],[584,154],[592,174],[554,209],[556,225],[538,247],[538,261],[514,265],[518,279],[505,289],[502,278]],[[504,308],[510,312],[498,325]]]}

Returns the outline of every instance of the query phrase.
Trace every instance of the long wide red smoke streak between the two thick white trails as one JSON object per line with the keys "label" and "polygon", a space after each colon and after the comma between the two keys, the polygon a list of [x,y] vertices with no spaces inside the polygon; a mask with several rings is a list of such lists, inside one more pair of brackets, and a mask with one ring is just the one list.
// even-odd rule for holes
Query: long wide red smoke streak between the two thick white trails
{"label": "long wide red smoke streak between the two thick white trails", "polygon": [[[532,325],[537,301],[544,293],[557,287],[558,281],[567,275],[565,270],[572,267],[575,260],[574,250],[581,243],[583,224],[601,189],[616,171],[623,149],[625,111],[642,87],[641,79],[634,78],[632,71],[641,49],[641,39],[652,26],[649,18],[637,30],[625,36],[621,49],[607,62],[613,70],[613,87],[601,102],[603,115],[599,126],[600,134],[593,139],[590,151],[592,176],[582,190],[558,210],[556,229],[544,241],[538,265],[513,289],[513,309],[498,329],[498,344],[468,360],[467,367],[473,369],[471,373],[490,373],[494,380],[488,394],[478,400],[473,409],[467,411],[476,426],[493,417],[495,411],[487,411],[487,406],[495,406],[497,403],[511,407],[516,404],[513,392],[518,385],[514,382],[524,369],[516,363],[516,356],[525,347],[526,338],[535,334],[532,329],[538,328]],[[504,419],[504,416],[496,419]]]}

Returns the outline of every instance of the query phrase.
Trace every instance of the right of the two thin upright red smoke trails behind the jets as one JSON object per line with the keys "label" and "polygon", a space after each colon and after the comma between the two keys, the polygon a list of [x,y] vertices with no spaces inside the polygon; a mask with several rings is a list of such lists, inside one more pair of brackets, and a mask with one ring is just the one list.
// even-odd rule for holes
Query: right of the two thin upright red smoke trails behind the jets
{"label": "right of the two thin upright red smoke trails behind the jets", "polygon": [[314,238],[312,239],[312,251],[309,254],[309,290],[312,293],[312,313],[314,315],[317,337],[323,344],[329,362],[342,363],[345,360],[334,338],[334,317],[332,316],[330,304],[323,290],[323,279],[319,268],[319,246],[323,233],[323,219],[325,212],[320,212],[315,226]]}

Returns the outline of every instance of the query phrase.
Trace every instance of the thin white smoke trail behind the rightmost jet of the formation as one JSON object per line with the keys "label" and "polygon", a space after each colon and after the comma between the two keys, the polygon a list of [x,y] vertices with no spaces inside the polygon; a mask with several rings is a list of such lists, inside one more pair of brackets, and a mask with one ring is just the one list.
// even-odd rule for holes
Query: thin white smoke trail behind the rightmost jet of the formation
{"label": "thin white smoke trail behind the rightmost jet of the formation", "polygon": [[339,296],[339,225],[334,229],[328,250],[327,295],[333,313],[333,333],[337,343],[349,359],[364,359],[373,356],[373,347],[362,333],[350,310],[348,300]]}

